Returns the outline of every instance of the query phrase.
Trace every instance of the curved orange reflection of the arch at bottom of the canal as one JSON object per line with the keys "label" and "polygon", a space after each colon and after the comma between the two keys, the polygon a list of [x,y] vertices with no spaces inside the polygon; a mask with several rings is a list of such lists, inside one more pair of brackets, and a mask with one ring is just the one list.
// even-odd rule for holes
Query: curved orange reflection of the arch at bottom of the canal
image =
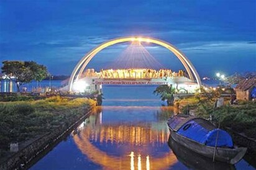
{"label": "curved orange reflection of the arch at bottom of the canal", "polygon": [[[130,155],[125,156],[111,156],[107,155],[104,151],[94,147],[89,142],[85,133],[81,133],[81,138],[74,135],[74,141],[83,154],[85,154],[91,161],[103,166],[106,169],[167,169],[172,164],[177,162],[176,156],[170,151],[160,158],[147,158],[147,155],[136,155],[135,158]],[[137,157],[137,159],[136,159]],[[134,161],[132,161],[132,158]]]}

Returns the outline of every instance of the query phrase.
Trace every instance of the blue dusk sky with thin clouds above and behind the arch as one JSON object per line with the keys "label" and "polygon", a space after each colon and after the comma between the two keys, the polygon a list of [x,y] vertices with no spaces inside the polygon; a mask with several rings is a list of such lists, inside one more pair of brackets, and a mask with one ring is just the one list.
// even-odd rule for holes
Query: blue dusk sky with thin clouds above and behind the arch
{"label": "blue dusk sky with thin clouds above and behind the arch", "polygon": [[[69,75],[90,49],[119,36],[168,41],[201,77],[256,70],[256,0],[1,0],[0,61],[36,61]],[[129,43],[104,49],[89,63],[101,69]],[[183,69],[165,48],[145,45],[166,68]]]}

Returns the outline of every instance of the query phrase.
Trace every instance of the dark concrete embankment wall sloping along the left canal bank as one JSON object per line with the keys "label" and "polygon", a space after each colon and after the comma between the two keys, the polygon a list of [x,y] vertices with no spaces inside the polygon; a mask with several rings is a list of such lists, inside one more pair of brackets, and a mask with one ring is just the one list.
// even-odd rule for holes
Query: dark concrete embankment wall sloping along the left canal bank
{"label": "dark concrete embankment wall sloping along the left canal bank", "polygon": [[70,124],[60,125],[52,132],[35,139],[17,153],[9,156],[9,158],[6,158],[4,161],[2,161],[2,163],[0,163],[0,169],[7,170],[29,168],[29,164],[31,164],[35,158],[37,158],[44,151],[49,150],[49,148],[53,145],[56,145],[62,140],[63,137],[70,134],[71,130],[75,129],[86,117],[89,116],[89,114],[91,114],[95,106],[96,103],[86,108],[85,114],[83,114],[83,116],[81,116],[78,120],[70,122]]}

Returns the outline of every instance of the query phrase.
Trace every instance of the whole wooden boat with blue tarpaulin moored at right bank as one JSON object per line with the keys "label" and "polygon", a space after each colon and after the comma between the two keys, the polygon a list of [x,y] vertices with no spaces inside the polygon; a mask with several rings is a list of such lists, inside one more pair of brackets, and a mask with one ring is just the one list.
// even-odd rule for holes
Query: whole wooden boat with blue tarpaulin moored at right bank
{"label": "whole wooden boat with blue tarpaulin moored at right bank", "polygon": [[175,142],[216,161],[235,164],[247,150],[234,147],[231,136],[206,119],[178,114],[170,117],[167,124]]}

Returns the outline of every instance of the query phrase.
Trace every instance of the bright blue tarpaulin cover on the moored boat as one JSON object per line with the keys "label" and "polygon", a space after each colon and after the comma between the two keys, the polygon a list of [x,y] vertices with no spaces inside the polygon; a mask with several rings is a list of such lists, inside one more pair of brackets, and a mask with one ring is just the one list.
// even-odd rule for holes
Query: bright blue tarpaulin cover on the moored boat
{"label": "bright blue tarpaulin cover on the moored boat", "polygon": [[181,126],[178,134],[202,143],[207,146],[215,147],[217,131],[217,147],[233,147],[231,136],[224,130],[216,129],[213,125],[202,119],[192,119]]}

